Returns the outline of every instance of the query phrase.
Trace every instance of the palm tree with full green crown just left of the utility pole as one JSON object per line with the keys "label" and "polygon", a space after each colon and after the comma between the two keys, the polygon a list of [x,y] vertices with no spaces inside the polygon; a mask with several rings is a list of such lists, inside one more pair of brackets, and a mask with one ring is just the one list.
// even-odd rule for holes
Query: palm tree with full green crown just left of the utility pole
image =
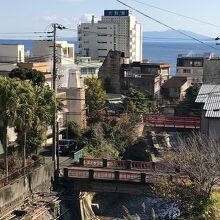
{"label": "palm tree with full green crown just left of the utility pole", "polygon": [[[24,84],[28,82],[23,82]],[[28,83],[30,93],[24,91],[21,101],[25,102],[23,109],[18,112],[16,127],[18,129],[18,142],[23,149],[23,165],[25,165],[26,149],[29,153],[37,151],[45,139],[42,132],[47,125],[52,123],[53,113],[56,108],[56,97],[48,86],[32,86]],[[28,100],[26,100],[28,99]],[[22,105],[21,105],[22,106]],[[24,114],[29,112],[29,114]]]}

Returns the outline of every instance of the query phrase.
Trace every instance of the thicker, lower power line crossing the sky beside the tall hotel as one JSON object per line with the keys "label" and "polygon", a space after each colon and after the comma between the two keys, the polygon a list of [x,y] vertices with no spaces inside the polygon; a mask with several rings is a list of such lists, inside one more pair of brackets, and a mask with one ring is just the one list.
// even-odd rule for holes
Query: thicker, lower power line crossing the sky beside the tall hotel
{"label": "thicker, lower power line crossing the sky beside the tall hotel", "polygon": [[145,14],[144,12],[142,12],[142,11],[140,11],[140,10],[138,10],[138,9],[136,9],[136,8],[134,8],[134,7],[132,7],[132,6],[128,5],[128,4],[126,4],[126,3],[122,2],[122,1],[120,1],[120,0],[115,0],[115,1],[117,1],[117,2],[119,2],[120,4],[122,4],[122,5],[124,5],[124,6],[128,7],[128,8],[130,8],[130,9],[136,11],[137,13],[143,15],[144,17],[149,18],[150,20],[153,20],[154,22],[156,22],[156,23],[158,23],[158,24],[160,24],[160,25],[162,25],[162,26],[164,26],[164,27],[167,27],[167,28],[169,28],[169,29],[171,29],[171,30],[173,30],[173,31],[175,31],[175,32],[177,32],[177,33],[179,33],[179,34],[182,34],[183,36],[186,36],[186,37],[188,37],[188,38],[191,38],[192,40],[195,40],[195,41],[197,41],[197,42],[199,42],[199,43],[201,43],[201,44],[203,44],[203,45],[205,45],[205,46],[207,46],[207,47],[210,47],[210,48],[212,48],[212,49],[214,49],[214,50],[220,51],[220,49],[218,49],[218,48],[216,48],[216,47],[214,47],[214,46],[211,46],[211,45],[209,45],[209,44],[207,44],[207,43],[205,43],[205,42],[203,42],[203,41],[201,41],[201,40],[199,40],[199,39],[197,39],[197,38],[195,38],[195,37],[192,37],[192,36],[190,36],[189,34],[186,34],[186,33],[182,32],[182,31],[180,31],[180,30],[177,30],[177,29],[173,28],[172,26],[170,26],[170,25],[168,25],[168,24],[165,24],[164,22],[161,22],[161,21],[159,21],[158,19],[153,18],[152,16],[149,16],[149,15]]}

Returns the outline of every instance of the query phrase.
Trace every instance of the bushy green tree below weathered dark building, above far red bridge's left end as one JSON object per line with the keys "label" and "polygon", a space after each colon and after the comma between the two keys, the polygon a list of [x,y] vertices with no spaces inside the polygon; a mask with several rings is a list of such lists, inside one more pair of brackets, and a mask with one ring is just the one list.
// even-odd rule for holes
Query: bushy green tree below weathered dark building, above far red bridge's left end
{"label": "bushy green tree below weathered dark building, above far red bridge's left end", "polygon": [[156,111],[156,100],[147,91],[129,89],[123,100],[125,111],[131,113],[151,113]]}

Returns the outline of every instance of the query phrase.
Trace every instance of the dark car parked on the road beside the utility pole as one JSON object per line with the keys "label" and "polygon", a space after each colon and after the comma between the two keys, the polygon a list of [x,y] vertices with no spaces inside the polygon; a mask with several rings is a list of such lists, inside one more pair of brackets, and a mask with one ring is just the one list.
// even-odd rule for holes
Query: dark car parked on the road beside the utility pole
{"label": "dark car parked on the road beside the utility pole", "polygon": [[77,150],[77,144],[72,139],[61,139],[59,140],[59,154],[67,155]]}

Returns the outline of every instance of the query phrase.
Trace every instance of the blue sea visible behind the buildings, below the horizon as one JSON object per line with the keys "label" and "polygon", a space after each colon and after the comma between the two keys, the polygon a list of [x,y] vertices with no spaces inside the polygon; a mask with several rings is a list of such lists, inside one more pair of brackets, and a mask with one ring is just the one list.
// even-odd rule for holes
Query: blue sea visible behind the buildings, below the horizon
{"label": "blue sea visible behind the buildings, below the horizon", "polygon": [[[69,42],[74,43],[75,49],[77,48],[77,42],[74,40]],[[220,45],[216,45],[216,42],[210,40],[203,42],[204,44],[195,41],[144,41],[143,59],[150,62],[168,63],[171,65],[171,74],[175,75],[176,60],[179,54],[191,56],[213,53],[220,56]],[[32,51],[32,40],[0,39],[0,44],[22,44],[26,52],[31,53]]]}

